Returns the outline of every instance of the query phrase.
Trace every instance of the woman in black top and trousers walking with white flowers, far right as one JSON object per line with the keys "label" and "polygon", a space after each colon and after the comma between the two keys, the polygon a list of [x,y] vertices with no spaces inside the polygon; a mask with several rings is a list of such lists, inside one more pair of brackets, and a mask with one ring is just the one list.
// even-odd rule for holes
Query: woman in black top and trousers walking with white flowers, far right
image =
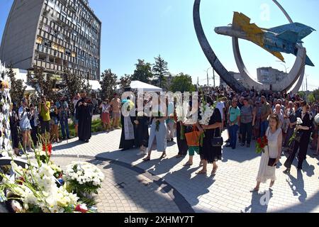
{"label": "woman in black top and trousers walking with white flowers, far right", "polygon": [[289,157],[287,158],[286,162],[284,163],[284,166],[286,167],[286,170],[284,173],[288,174],[291,169],[291,164],[293,160],[295,159],[296,153],[298,152],[298,166],[297,170],[302,170],[303,168],[303,160],[306,160],[307,156],[307,150],[311,135],[311,126],[313,124],[313,118],[309,114],[310,106],[306,103],[306,101],[301,102],[302,106],[302,113],[301,113],[301,120],[303,123],[300,126],[296,126],[297,130],[302,131],[301,140],[300,142],[294,141],[293,145],[293,151],[290,153]]}

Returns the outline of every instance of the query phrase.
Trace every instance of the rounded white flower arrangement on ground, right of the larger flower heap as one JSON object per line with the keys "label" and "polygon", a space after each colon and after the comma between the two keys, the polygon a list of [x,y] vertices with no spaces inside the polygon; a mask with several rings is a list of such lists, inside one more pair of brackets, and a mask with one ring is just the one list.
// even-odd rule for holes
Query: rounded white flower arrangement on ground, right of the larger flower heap
{"label": "rounded white flower arrangement on ground, right of the larger flower heap", "polygon": [[65,172],[67,187],[80,197],[86,193],[98,194],[103,179],[103,172],[89,162],[72,162]]}

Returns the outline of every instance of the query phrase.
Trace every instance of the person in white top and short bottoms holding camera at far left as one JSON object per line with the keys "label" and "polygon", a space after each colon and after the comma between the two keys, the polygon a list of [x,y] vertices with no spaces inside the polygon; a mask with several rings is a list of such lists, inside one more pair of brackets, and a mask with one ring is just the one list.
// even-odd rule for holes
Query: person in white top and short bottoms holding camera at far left
{"label": "person in white top and short bottoms holding camera at far left", "polygon": [[[32,152],[33,150],[31,148],[31,139],[30,139],[31,113],[30,113],[30,108],[28,108],[28,102],[26,98],[22,99],[22,105],[18,111],[18,118],[20,120],[19,123],[20,123],[20,129],[22,132],[24,151]],[[27,145],[28,145],[28,150],[27,150]]]}

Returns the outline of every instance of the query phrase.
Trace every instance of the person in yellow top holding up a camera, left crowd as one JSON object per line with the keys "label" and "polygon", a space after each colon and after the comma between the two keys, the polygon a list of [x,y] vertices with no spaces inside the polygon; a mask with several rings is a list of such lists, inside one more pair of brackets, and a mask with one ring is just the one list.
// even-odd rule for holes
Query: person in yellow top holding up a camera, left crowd
{"label": "person in yellow top holding up a camera, left crowd", "polygon": [[43,140],[45,140],[45,134],[49,134],[50,136],[50,108],[51,103],[47,101],[46,97],[41,96],[41,102],[39,105],[39,113],[40,113],[40,127],[41,127],[41,135]]}

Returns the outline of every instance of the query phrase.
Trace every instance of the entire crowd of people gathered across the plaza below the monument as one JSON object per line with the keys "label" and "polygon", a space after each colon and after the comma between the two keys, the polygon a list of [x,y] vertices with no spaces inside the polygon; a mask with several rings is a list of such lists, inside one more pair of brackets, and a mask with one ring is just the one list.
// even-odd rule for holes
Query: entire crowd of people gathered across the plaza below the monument
{"label": "entire crowd of people gathered across the plaza below the monument", "polygon": [[[224,130],[228,133],[225,147],[233,150],[237,146],[250,148],[252,140],[267,136],[268,145],[262,153],[257,186],[252,190],[255,192],[259,189],[259,184],[267,179],[271,179],[272,187],[276,179],[275,166],[283,153],[288,156],[284,163],[286,174],[289,174],[296,154],[298,154],[297,169],[302,170],[309,146],[314,150],[313,155],[319,154],[319,126],[314,120],[315,116],[319,115],[318,100],[308,104],[298,94],[257,92],[254,89],[247,89],[238,94],[229,88],[216,87],[209,92],[201,92],[198,106],[192,106],[192,101],[189,102],[189,111],[194,107],[197,110],[192,113],[193,116],[194,114],[198,116],[196,122],[184,121],[185,119],[181,120],[177,116],[176,99],[155,101],[152,96],[138,96],[139,101],[136,101],[133,109],[129,108],[130,99],[128,96],[127,99],[121,100],[118,94],[114,94],[111,101],[105,99],[97,107],[101,110],[101,122],[105,131],[122,130],[119,148],[122,150],[139,148],[138,155],[145,155],[143,158],[145,162],[151,160],[153,150],[162,153],[161,158],[166,157],[167,143],[174,142],[176,135],[177,158],[185,157],[188,153],[189,160],[185,165],[193,165],[193,157],[197,153],[203,165],[201,171],[197,173],[206,174],[207,165],[213,164],[211,173],[215,175],[218,170],[217,162],[222,159],[222,145],[213,141],[221,138]],[[206,104],[215,106],[206,124],[201,123],[200,108],[203,100]],[[74,106],[73,114],[69,114],[71,111],[64,96],[56,102],[47,101],[46,97],[42,96],[38,105],[29,104],[25,98],[21,100],[21,106],[13,104],[10,126],[16,155],[19,155],[20,140],[24,150],[33,151],[39,142],[38,133],[42,138],[49,134],[50,138],[58,143],[59,125],[62,140],[69,139],[71,115],[76,136],[88,143],[96,104],[86,96],[85,91],[76,94],[71,103]],[[141,104],[142,106],[138,106]],[[141,109],[143,111],[138,111]],[[152,109],[158,111],[147,111]],[[123,110],[135,111],[135,116],[125,115]],[[194,135],[198,136],[198,140],[191,138]],[[272,165],[269,165],[270,160]]]}

